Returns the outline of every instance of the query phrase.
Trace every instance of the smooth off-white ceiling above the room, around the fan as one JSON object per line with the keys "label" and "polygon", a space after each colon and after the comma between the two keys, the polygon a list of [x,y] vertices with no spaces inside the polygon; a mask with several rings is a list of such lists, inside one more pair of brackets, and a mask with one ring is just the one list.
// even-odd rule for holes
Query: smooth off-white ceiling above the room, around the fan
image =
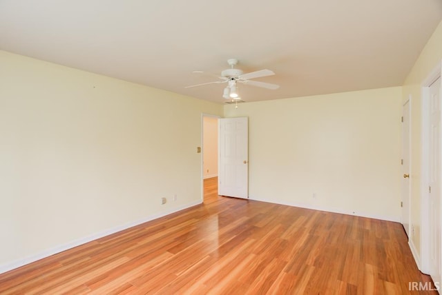
{"label": "smooth off-white ceiling above the room, around the fan", "polygon": [[0,49],[219,103],[225,84],[184,86],[236,58],[276,72],[241,85],[260,101],[402,85],[441,19],[441,0],[0,0]]}

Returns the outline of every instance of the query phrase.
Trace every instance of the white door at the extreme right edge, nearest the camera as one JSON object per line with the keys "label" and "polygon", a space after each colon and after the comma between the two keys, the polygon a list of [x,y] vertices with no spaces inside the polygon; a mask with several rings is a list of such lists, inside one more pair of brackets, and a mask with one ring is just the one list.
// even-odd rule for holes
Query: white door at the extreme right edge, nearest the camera
{"label": "white door at the extreme right edge, nearest the camera", "polygon": [[430,85],[430,275],[441,283],[441,77]]}

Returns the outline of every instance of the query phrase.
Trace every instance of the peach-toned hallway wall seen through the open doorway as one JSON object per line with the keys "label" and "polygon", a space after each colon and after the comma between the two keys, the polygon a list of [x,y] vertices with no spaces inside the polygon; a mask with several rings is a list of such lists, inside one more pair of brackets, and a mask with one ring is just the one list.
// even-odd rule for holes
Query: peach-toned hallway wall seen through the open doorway
{"label": "peach-toned hallway wall seen through the open doorway", "polygon": [[218,176],[218,118],[204,116],[203,177]]}

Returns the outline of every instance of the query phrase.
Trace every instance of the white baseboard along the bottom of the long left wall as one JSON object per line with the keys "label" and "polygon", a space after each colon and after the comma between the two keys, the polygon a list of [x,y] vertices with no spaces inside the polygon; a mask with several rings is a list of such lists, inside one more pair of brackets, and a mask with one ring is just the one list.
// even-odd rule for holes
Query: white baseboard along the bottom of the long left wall
{"label": "white baseboard along the bottom of the long left wall", "polygon": [[202,203],[201,200],[193,201],[193,202],[188,203],[186,205],[182,205],[180,207],[175,207],[175,208],[173,208],[171,210],[166,210],[166,211],[161,212],[159,214],[153,214],[151,216],[146,216],[146,218],[143,218],[143,219],[141,219],[139,221],[135,221],[135,222],[131,222],[131,223],[126,223],[125,225],[119,225],[117,227],[113,227],[111,229],[104,230],[102,232],[97,232],[96,234],[91,234],[90,236],[86,236],[84,238],[79,238],[79,239],[77,239],[75,241],[71,241],[70,243],[66,243],[66,244],[63,244],[63,245],[58,245],[56,247],[52,247],[52,248],[50,248],[48,250],[40,252],[39,254],[28,256],[26,258],[18,259],[17,261],[12,261],[11,263],[6,263],[6,264],[3,264],[3,265],[0,265],[0,274],[3,274],[4,272],[9,272],[12,269],[16,269],[16,268],[21,267],[23,265],[27,265],[29,263],[32,263],[32,262],[38,261],[40,259],[46,258],[48,256],[51,256],[51,255],[54,255],[54,254],[57,254],[57,253],[60,253],[60,252],[72,249],[73,247],[77,247],[79,245],[83,245],[83,244],[89,243],[90,241],[97,240],[97,238],[102,238],[102,237],[108,236],[110,234],[115,234],[115,232],[121,232],[122,230],[126,230],[129,227],[133,227],[135,225],[140,225],[140,224],[145,223],[147,221],[152,221],[153,219],[157,219],[157,218],[160,218],[160,217],[163,217],[163,216],[166,216],[166,215],[178,212],[180,210],[184,210],[186,208],[193,207],[195,205],[199,205],[201,203]]}

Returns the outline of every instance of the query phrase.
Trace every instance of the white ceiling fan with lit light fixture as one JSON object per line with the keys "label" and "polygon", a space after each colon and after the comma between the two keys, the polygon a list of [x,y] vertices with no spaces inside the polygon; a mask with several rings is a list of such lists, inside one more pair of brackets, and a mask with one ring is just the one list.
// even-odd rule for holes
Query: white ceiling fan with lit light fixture
{"label": "white ceiling fan with lit light fixture", "polygon": [[251,85],[271,90],[276,90],[279,88],[279,85],[276,84],[251,80],[255,78],[274,75],[275,73],[271,70],[259,70],[256,72],[249,72],[244,74],[242,70],[235,68],[235,65],[238,64],[238,59],[229,59],[227,60],[227,63],[229,63],[230,68],[227,70],[223,70],[221,72],[221,77],[218,77],[219,79],[221,79],[220,81],[190,85],[186,86],[185,88],[192,88],[192,87],[214,84],[214,83],[227,83],[227,87],[224,88],[222,97],[224,97],[224,99],[234,99],[234,100],[240,99],[240,96],[238,94],[238,83],[244,83],[246,85]]}

